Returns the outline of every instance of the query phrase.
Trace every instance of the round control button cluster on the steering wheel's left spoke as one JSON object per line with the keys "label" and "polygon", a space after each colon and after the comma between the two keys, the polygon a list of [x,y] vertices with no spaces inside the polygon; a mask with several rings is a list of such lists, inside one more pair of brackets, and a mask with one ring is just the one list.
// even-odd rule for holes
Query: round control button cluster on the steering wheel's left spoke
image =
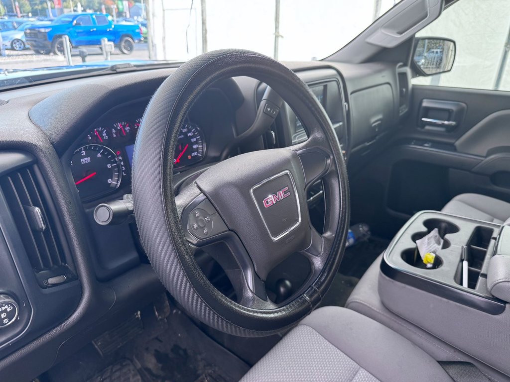
{"label": "round control button cluster on the steering wheel's left spoke", "polygon": [[207,239],[226,231],[225,223],[209,200],[204,200],[188,216],[188,231],[197,239]]}

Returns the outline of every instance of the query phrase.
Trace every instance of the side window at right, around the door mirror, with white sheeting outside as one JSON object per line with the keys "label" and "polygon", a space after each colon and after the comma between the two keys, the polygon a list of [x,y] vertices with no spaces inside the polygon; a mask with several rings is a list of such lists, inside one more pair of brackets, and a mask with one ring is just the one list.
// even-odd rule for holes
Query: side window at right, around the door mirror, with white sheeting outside
{"label": "side window at right, around the door mirror, with white sheeting outside", "polygon": [[450,72],[413,78],[413,84],[510,91],[507,0],[461,0],[416,37],[452,39],[456,50]]}

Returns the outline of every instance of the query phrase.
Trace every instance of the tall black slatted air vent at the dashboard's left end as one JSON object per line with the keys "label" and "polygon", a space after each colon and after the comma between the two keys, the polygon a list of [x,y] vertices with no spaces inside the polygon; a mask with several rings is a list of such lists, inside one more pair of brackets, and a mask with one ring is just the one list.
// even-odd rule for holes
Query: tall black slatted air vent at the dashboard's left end
{"label": "tall black slatted air vent at the dashboard's left end", "polygon": [[69,267],[69,249],[42,174],[36,166],[0,178],[12,218],[37,281],[50,287],[76,279]]}

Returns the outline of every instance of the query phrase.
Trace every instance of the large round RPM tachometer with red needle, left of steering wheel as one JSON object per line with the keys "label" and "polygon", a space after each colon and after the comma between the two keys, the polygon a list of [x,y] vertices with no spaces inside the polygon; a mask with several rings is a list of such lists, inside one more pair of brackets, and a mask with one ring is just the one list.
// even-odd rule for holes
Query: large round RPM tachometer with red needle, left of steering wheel
{"label": "large round RPM tachometer with red needle, left of steering wheel", "polygon": [[114,191],[122,178],[119,159],[103,145],[87,145],[74,151],[71,173],[82,200]]}

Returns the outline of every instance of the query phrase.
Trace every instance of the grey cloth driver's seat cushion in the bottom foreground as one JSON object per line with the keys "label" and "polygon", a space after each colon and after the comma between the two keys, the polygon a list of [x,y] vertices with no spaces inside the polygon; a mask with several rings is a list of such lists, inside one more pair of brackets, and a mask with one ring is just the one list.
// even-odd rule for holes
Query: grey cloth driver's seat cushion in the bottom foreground
{"label": "grey cloth driver's seat cushion in the bottom foreground", "polygon": [[252,381],[449,381],[418,346],[360,313],[317,309],[241,379]]}

